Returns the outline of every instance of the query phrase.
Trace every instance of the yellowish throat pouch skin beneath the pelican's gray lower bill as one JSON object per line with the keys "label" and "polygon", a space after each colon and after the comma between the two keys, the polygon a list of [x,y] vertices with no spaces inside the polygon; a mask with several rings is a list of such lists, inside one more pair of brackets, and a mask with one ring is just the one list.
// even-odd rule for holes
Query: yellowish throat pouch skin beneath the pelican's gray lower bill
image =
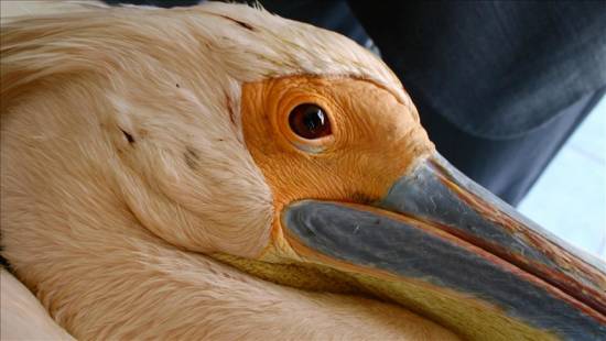
{"label": "yellowish throat pouch skin beneath the pelican's gray lower bill", "polygon": [[[317,262],[293,261],[273,252],[266,254],[267,260],[250,260],[228,254],[214,254],[214,257],[255,277],[282,286],[307,292],[361,296],[393,304],[437,322],[464,339],[555,340],[564,338],[553,329],[545,330],[529,323],[523,318],[512,317],[507,309],[486,298],[433,285],[428,280],[429,278],[414,279],[393,276],[389,273],[369,272],[353,267],[348,263],[335,264],[327,258]],[[483,283],[483,278],[474,279],[479,284]],[[543,309],[549,310],[550,307],[545,305]],[[599,324],[596,328],[600,330]],[[584,332],[575,328],[572,330],[577,334]],[[597,340],[595,333],[587,336],[587,340]]]}

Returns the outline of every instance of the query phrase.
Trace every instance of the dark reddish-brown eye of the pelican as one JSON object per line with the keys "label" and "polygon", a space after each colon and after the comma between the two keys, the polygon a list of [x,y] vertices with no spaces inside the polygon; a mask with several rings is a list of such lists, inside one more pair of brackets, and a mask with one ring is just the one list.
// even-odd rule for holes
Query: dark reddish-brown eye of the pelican
{"label": "dark reddish-brown eye of the pelican", "polygon": [[315,140],[332,134],[328,114],[316,105],[299,105],[289,114],[289,124],[299,136]]}

